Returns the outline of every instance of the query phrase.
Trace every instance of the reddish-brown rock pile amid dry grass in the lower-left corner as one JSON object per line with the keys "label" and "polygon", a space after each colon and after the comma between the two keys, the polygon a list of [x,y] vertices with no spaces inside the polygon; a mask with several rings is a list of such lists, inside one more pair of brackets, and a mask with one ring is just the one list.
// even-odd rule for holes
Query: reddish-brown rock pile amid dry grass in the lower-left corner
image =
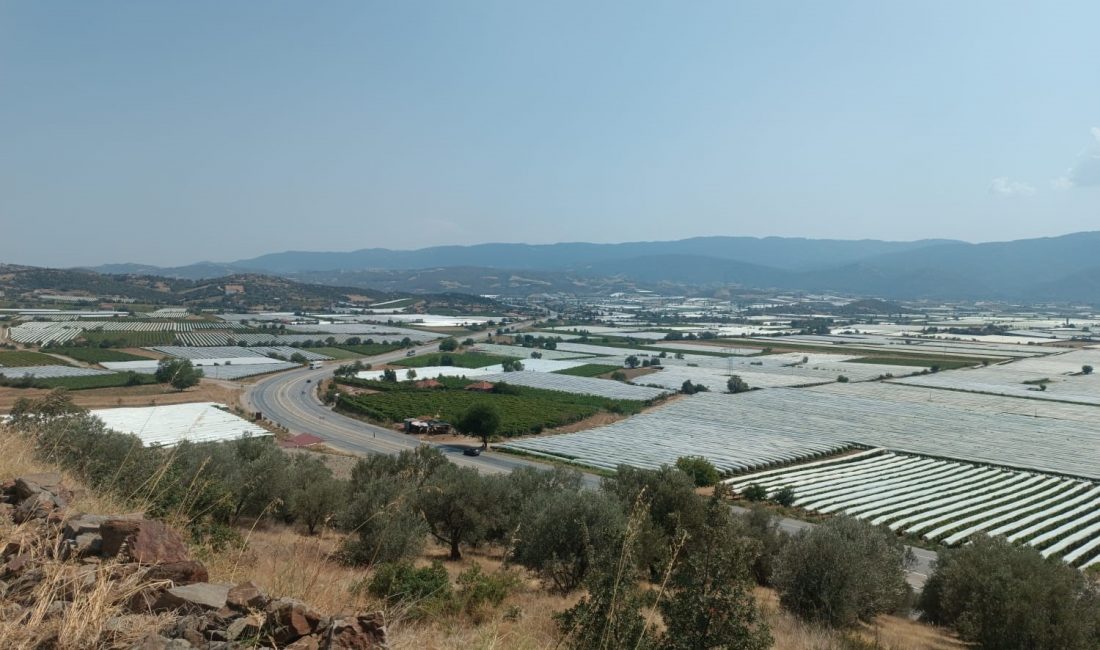
{"label": "reddish-brown rock pile amid dry grass in the lower-left corner", "polygon": [[326,616],[294,598],[270,598],[252,582],[210,583],[206,566],[168,526],[141,514],[69,513],[72,497],[57,474],[0,483],[0,517],[20,525],[0,543],[0,616],[28,617],[48,569],[54,576],[62,572],[57,582],[66,586],[51,592],[47,616],[64,616],[102,580],[128,581],[122,602],[130,614],[174,614],[134,649],[386,647],[381,613]]}

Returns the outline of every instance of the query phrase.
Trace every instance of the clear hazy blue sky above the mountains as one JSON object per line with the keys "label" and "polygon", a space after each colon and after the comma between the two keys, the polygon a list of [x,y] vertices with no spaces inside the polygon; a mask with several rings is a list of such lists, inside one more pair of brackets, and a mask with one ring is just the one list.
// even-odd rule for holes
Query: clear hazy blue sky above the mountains
{"label": "clear hazy blue sky above the mountains", "polygon": [[0,0],[0,261],[1096,230],[1098,25],[1096,0]]}

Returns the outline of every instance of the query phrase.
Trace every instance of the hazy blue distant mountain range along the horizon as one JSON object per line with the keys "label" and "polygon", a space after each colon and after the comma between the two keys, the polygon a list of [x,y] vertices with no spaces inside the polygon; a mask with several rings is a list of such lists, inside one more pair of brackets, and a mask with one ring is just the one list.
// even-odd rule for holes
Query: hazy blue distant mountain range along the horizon
{"label": "hazy blue distant mountain range along the horizon", "polygon": [[620,244],[288,251],[228,264],[175,268],[112,264],[94,271],[191,279],[267,273],[300,282],[415,293],[738,287],[906,300],[1100,305],[1100,232],[982,244],[708,236]]}

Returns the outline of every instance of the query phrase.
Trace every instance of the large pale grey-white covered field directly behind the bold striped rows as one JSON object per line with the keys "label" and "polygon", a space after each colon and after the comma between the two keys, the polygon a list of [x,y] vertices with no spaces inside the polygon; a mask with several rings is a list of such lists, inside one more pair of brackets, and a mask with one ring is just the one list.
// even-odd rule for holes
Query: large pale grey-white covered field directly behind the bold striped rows
{"label": "large pale grey-white covered field directly behind the bold striped rows", "polygon": [[601,467],[702,455],[723,470],[744,471],[862,445],[1100,478],[1098,415],[1097,407],[1076,404],[833,383],[698,394],[607,427],[530,443],[542,445],[532,451]]}

